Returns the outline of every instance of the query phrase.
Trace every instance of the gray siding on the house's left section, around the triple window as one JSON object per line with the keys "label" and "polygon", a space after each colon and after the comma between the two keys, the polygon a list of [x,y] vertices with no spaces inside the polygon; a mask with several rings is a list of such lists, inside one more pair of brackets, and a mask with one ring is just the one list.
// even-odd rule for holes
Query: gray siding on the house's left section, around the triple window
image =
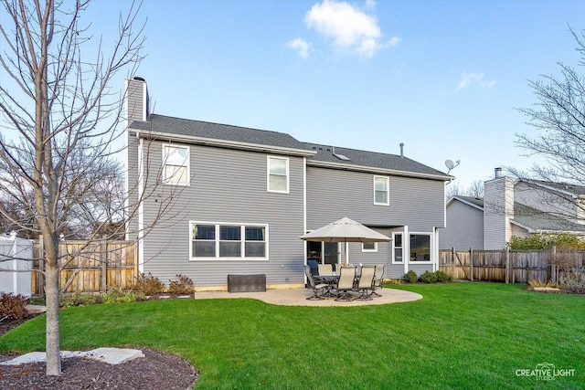
{"label": "gray siding on the house's left section, around the triple window", "polygon": [[[162,143],[149,161],[158,173]],[[144,223],[171,206],[144,239],[144,271],[168,283],[176,274],[197,287],[225,286],[229,274],[266,274],[267,284],[303,283],[303,158],[289,158],[290,193],[267,192],[267,154],[190,145],[189,186],[163,184],[144,204]],[[165,204],[172,195],[173,201]],[[189,258],[189,221],[268,224],[268,260]]]}

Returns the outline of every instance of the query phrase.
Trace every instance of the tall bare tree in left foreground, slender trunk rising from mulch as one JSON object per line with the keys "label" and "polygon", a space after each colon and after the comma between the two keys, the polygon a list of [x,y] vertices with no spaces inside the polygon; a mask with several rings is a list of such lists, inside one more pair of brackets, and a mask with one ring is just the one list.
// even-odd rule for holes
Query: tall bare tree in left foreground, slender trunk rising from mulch
{"label": "tall bare tree in left foreground, slender trunk rising from mulch", "polygon": [[119,35],[105,55],[101,39],[80,25],[89,0],[1,1],[0,112],[8,132],[0,138],[0,192],[27,200],[32,229],[42,235],[47,374],[58,375],[59,235],[99,208],[88,196],[104,182],[101,172],[116,152],[112,142],[124,134],[123,96],[110,84],[117,72],[132,73],[141,60],[142,29],[133,30],[140,7],[120,16]]}

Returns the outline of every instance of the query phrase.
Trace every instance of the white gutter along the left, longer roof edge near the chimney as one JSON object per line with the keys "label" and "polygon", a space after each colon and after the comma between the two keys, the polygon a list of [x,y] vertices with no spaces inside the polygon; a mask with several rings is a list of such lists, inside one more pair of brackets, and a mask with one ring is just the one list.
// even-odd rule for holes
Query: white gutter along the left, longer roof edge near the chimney
{"label": "white gutter along the left, longer roof edge near the chimney", "polygon": [[271,146],[265,144],[258,144],[258,143],[250,143],[250,142],[237,142],[237,141],[226,141],[226,140],[218,140],[213,138],[205,138],[205,137],[195,137],[192,135],[181,135],[181,134],[173,134],[172,136],[169,135],[167,132],[153,132],[153,131],[144,131],[129,128],[128,132],[135,132],[138,138],[153,138],[158,141],[169,141],[169,142],[185,142],[185,143],[192,143],[196,145],[206,145],[206,146],[214,146],[218,148],[227,148],[227,149],[239,149],[251,152],[262,152],[262,153],[274,153],[274,154],[287,154],[287,155],[294,155],[294,156],[313,156],[317,152],[309,151],[306,149],[296,149],[296,148],[285,148],[281,146]]}

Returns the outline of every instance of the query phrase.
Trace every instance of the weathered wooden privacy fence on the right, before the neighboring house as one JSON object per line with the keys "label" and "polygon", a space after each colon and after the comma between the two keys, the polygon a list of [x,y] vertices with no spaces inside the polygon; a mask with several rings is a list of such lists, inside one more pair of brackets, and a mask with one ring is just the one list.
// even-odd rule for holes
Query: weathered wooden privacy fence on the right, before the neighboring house
{"label": "weathered wooden privacy fence on the right, before the neighboring house", "polygon": [[455,279],[527,283],[557,281],[585,268],[585,250],[440,250],[439,269]]}

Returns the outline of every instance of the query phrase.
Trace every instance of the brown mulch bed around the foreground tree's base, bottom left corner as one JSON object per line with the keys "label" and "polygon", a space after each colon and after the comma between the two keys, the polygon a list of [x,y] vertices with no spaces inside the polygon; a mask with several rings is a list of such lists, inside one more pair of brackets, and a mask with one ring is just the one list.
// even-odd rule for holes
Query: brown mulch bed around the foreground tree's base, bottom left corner
{"label": "brown mulch bed around the foreground tree's base, bottom left corner", "polygon": [[[0,336],[28,319],[0,321]],[[122,364],[88,358],[61,360],[61,375],[46,375],[45,363],[0,365],[0,389],[191,389],[199,372],[183,358],[141,348],[144,357]],[[0,362],[17,354],[0,354]]]}

